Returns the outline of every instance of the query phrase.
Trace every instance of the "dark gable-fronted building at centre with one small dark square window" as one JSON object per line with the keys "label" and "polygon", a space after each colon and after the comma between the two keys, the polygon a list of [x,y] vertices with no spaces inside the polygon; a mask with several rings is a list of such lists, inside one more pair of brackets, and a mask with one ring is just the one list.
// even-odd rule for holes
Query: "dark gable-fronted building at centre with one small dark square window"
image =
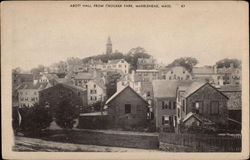
{"label": "dark gable-fronted building at centre with one small dark square window", "polygon": [[111,96],[105,108],[115,127],[140,126],[147,121],[148,103],[130,86]]}

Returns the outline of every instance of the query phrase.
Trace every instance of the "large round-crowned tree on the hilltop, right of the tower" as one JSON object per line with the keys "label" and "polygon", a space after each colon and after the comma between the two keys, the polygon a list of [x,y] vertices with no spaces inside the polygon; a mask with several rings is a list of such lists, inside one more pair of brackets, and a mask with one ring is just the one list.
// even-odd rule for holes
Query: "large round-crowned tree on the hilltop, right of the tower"
{"label": "large round-crowned tree on the hilltop, right of the tower", "polygon": [[131,69],[137,69],[138,58],[149,58],[150,55],[142,47],[136,47],[129,50],[125,60],[131,64]]}

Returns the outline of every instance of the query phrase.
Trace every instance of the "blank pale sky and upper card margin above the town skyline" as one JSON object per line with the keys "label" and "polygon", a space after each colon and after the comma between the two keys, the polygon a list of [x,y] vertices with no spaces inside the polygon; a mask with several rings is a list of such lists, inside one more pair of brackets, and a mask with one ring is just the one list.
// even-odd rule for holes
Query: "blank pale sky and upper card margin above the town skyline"
{"label": "blank pale sky and upper card margin above the town skyline", "polygon": [[171,8],[128,9],[16,2],[2,11],[3,52],[11,56],[13,68],[28,70],[67,57],[105,53],[110,36],[113,51],[127,53],[140,46],[165,64],[188,56],[197,58],[198,66],[223,58],[241,59],[248,40],[245,5],[185,2],[181,8],[180,3],[171,3]]}

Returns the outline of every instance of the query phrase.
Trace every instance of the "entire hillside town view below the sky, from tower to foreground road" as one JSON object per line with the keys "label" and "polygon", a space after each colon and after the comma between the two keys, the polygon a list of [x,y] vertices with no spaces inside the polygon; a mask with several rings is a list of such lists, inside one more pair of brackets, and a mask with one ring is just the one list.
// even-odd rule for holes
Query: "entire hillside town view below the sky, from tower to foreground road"
{"label": "entire hillside town view below the sky, from tower to foreground road", "polygon": [[241,60],[165,64],[144,46],[103,46],[12,69],[13,151],[241,152]]}

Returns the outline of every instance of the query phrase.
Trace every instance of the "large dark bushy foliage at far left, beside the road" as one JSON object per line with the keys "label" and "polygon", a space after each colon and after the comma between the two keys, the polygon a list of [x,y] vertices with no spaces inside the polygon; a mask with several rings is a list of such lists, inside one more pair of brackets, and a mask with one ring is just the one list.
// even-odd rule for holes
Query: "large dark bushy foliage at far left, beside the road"
{"label": "large dark bushy foliage at far left, beside the road", "polygon": [[[21,115],[20,129],[24,133],[37,135],[52,122],[50,111],[45,106],[34,104],[33,107],[19,109]],[[16,114],[17,115],[17,114]]]}

